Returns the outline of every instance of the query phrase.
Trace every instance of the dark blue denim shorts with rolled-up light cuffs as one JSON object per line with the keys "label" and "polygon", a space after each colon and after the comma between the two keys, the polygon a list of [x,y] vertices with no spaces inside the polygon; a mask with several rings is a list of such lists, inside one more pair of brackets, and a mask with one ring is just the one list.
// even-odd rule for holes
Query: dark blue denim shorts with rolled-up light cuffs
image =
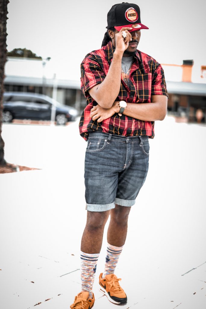
{"label": "dark blue denim shorts with rolled-up light cuffs", "polygon": [[89,133],[85,154],[86,210],[132,206],[149,167],[148,136]]}

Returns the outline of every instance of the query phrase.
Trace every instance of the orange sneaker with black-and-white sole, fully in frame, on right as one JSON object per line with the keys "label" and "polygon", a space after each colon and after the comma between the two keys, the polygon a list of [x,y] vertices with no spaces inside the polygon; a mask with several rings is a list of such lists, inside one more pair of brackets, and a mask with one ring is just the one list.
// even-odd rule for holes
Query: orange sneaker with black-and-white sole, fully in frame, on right
{"label": "orange sneaker with black-and-white sole, fully in frame, on right", "polygon": [[113,304],[124,304],[127,302],[125,291],[121,288],[117,276],[112,273],[102,278],[102,273],[99,276],[99,284],[101,291],[107,296],[109,301]]}

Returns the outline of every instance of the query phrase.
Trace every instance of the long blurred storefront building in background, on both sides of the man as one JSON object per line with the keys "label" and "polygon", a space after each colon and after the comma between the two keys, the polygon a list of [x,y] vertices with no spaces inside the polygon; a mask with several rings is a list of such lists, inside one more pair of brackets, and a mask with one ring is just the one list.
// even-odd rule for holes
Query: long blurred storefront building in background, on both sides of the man
{"label": "long blurred storefront building in background, on both sides of the man", "polygon": [[[53,87],[57,87],[57,101],[75,107],[80,114],[86,104],[80,90],[80,80],[46,78],[44,71],[42,71],[42,76],[39,76],[41,67],[35,76],[35,69],[37,64],[41,66],[41,61],[32,61],[31,59],[21,61],[18,59],[15,62],[14,57],[9,58],[7,61],[8,73],[6,71],[4,80],[5,91],[35,92],[52,97]],[[14,75],[14,72],[11,74],[9,65],[12,68],[15,66],[18,75]],[[23,66],[27,69],[27,74],[23,74]],[[162,64],[162,66],[169,93],[168,114],[180,117],[185,122],[206,123],[206,67],[202,66],[201,70],[204,83],[192,83],[193,60],[184,60],[183,65]],[[19,72],[22,73],[19,74]],[[167,77],[170,77],[171,80],[168,80]]]}

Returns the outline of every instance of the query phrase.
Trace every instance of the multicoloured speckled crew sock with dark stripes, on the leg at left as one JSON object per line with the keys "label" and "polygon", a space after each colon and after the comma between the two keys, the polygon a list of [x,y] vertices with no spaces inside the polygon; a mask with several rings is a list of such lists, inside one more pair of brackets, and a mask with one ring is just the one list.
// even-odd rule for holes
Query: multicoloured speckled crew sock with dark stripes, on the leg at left
{"label": "multicoloured speckled crew sock with dark stripes, on the leg at left", "polygon": [[80,252],[81,258],[81,290],[89,292],[89,298],[92,298],[92,288],[97,268],[99,253]]}

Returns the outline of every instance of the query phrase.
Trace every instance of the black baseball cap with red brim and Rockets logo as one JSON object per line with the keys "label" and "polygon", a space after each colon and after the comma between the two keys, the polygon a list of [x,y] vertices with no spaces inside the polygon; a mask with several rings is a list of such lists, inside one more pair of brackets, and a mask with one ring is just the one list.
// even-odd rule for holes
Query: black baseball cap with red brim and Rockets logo
{"label": "black baseball cap with red brim and Rockets logo", "polygon": [[122,2],[111,7],[107,14],[107,29],[114,27],[120,31],[122,27],[131,27],[132,31],[149,29],[141,23],[140,8],[137,4]]}

